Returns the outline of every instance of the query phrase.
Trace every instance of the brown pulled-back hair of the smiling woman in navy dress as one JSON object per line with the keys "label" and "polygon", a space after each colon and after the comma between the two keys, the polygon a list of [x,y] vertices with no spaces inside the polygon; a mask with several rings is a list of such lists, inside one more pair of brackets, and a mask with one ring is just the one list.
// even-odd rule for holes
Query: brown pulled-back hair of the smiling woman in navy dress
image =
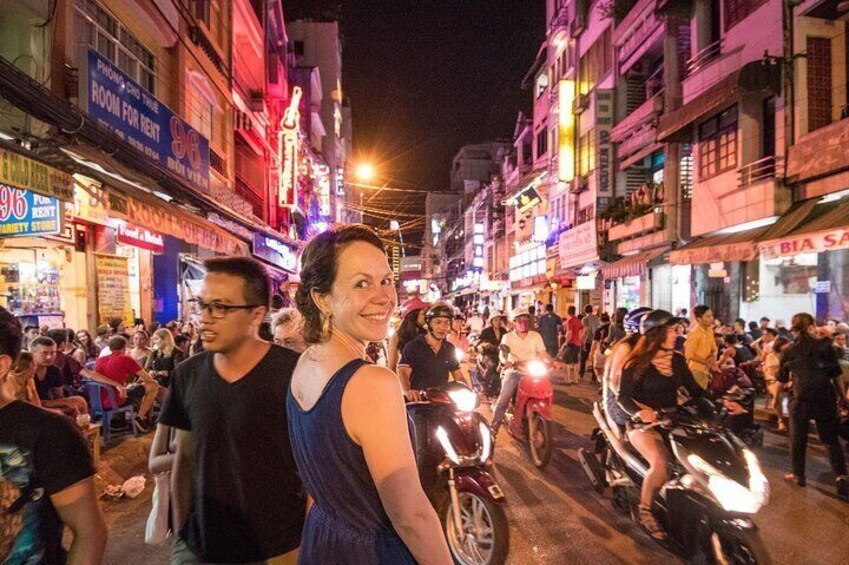
{"label": "brown pulled-back hair of the smiling woman in navy dress", "polygon": [[348,244],[357,241],[386,253],[374,230],[363,224],[348,224],[313,237],[301,255],[301,286],[295,294],[295,303],[304,317],[304,340],[307,343],[320,343],[326,337],[321,332],[321,311],[310,293],[313,290],[319,294],[330,292],[339,270],[339,254]]}

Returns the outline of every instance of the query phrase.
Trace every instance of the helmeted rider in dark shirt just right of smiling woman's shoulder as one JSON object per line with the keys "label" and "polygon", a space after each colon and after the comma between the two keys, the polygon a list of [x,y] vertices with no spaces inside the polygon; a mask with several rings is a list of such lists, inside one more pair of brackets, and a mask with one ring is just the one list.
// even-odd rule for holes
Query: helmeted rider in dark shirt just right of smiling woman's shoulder
{"label": "helmeted rider in dark shirt just right of smiling woman's shoulder", "polygon": [[454,346],[446,339],[454,320],[454,309],[445,303],[436,303],[425,312],[427,333],[404,346],[398,363],[401,388],[409,400],[418,401],[420,392],[440,387],[450,377],[471,386],[460,370]]}

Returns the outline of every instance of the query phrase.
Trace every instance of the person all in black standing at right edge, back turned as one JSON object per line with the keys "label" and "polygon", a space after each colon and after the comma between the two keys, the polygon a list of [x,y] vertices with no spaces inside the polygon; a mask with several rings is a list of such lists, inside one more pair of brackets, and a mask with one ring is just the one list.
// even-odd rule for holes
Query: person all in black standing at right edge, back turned
{"label": "person all in black standing at right edge, back turned", "polygon": [[837,402],[845,396],[845,391],[837,355],[829,340],[817,336],[816,324],[810,314],[793,316],[791,330],[796,340],[782,353],[778,370],[778,382],[793,381],[790,401],[790,457],[793,472],[785,475],[785,479],[805,486],[808,426],[814,420],[820,441],[828,448],[831,470],[837,477],[837,492],[841,496],[849,496],[846,460],[838,435],[840,421]]}

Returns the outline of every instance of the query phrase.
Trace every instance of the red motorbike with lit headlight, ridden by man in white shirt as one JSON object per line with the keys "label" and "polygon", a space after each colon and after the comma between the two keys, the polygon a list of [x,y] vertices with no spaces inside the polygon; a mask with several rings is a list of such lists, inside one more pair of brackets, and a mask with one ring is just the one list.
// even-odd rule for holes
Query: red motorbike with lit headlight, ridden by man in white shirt
{"label": "red motorbike with lit headlight, ridden by man in white shirt", "polygon": [[[501,351],[510,355],[510,348],[504,344]],[[550,367],[539,359],[529,359],[504,370],[521,375],[516,394],[504,415],[504,427],[513,437],[527,440],[531,462],[542,469],[551,461],[554,452],[551,429],[554,385],[551,384]]]}

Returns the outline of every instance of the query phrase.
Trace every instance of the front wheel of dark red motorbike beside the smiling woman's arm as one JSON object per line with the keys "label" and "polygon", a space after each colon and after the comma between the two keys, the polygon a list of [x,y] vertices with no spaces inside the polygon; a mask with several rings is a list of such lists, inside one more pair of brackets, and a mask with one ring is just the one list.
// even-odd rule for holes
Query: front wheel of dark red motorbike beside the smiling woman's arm
{"label": "front wheel of dark red motorbike beside the smiling woman's arm", "polygon": [[510,529],[504,509],[490,500],[461,492],[460,521],[463,532],[454,524],[454,508],[449,493],[437,505],[451,557],[458,565],[502,565],[510,548]]}

